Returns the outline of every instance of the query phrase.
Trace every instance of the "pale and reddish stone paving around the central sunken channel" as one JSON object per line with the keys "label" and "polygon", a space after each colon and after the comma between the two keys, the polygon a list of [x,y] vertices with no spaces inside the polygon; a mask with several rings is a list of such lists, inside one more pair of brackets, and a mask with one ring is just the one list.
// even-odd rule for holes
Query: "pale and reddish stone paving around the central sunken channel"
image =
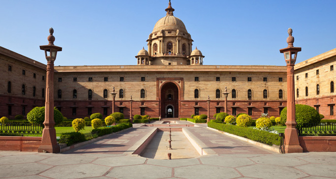
{"label": "pale and reddish stone paving around the central sunken channel", "polygon": [[[185,121],[187,123],[187,121]],[[336,152],[278,154],[209,130],[188,131],[213,154],[158,160],[131,155],[153,128],[132,129],[64,153],[0,151],[6,179],[336,179]]]}

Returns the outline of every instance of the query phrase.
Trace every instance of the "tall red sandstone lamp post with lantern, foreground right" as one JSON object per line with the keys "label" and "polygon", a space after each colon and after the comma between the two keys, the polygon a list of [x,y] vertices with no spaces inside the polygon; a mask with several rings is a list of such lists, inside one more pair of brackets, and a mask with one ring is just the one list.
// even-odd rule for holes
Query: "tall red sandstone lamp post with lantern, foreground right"
{"label": "tall red sandstone lamp post with lantern, foreground right", "polygon": [[287,65],[287,121],[285,129],[285,153],[303,152],[299,143],[298,130],[295,128],[295,96],[294,96],[294,65],[298,52],[301,47],[294,47],[293,30],[288,29],[289,36],[287,37],[288,47],[280,49],[283,53]]}

